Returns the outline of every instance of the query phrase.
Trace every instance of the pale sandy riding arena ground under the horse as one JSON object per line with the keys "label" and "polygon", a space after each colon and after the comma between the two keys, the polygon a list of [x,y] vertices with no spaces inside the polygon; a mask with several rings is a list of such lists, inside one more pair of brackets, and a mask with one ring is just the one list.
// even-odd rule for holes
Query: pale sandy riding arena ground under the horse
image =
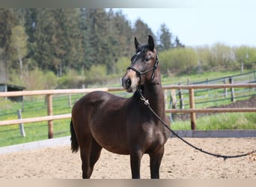
{"label": "pale sandy riding arena ground under the horse", "polygon": [[[237,155],[256,150],[256,138],[186,138],[213,153]],[[199,153],[177,138],[165,144],[160,168],[162,179],[256,179],[256,154],[237,159],[219,159]],[[81,178],[79,153],[70,146],[49,147],[18,153],[0,154],[0,179]],[[129,156],[103,150],[91,178],[129,179]],[[141,161],[141,178],[150,178],[149,156]]]}

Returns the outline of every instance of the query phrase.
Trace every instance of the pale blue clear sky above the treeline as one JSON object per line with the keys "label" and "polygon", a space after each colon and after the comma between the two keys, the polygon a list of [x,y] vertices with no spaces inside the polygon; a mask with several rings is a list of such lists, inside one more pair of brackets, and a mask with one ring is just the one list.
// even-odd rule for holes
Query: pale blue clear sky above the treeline
{"label": "pale blue clear sky above the treeline", "polygon": [[[255,6],[254,6],[255,4]],[[163,23],[186,46],[223,43],[256,47],[256,3],[235,6],[117,8],[134,25],[138,18],[157,34]]]}

